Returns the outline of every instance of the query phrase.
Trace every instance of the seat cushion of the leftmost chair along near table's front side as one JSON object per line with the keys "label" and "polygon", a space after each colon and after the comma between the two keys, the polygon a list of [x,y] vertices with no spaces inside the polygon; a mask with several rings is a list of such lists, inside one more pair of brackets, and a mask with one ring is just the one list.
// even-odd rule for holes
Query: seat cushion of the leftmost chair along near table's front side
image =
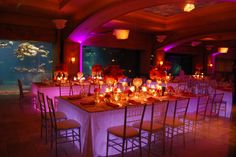
{"label": "seat cushion of the leftmost chair along near table's front side", "polygon": [[[123,132],[124,132],[124,126],[114,126],[114,127],[110,127],[107,129],[107,131],[110,134],[113,134],[115,136],[118,137],[124,137]],[[126,126],[126,137],[125,138],[131,138],[131,137],[135,137],[138,136],[139,132],[136,128],[132,127],[132,126]]]}

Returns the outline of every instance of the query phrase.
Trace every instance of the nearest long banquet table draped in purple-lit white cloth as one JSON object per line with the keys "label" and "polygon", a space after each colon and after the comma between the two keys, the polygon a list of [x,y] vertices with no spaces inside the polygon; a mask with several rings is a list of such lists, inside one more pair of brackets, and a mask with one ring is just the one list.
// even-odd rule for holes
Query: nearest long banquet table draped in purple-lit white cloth
{"label": "nearest long banquet table draped in purple-lit white cloth", "polygon": [[[82,103],[82,100],[70,97],[57,97],[56,99],[58,99],[58,110],[81,124],[82,156],[105,156],[107,128],[123,124],[124,108],[89,104],[87,100],[85,100],[86,103]],[[171,106],[176,98],[169,100]],[[197,97],[191,97],[188,112],[196,109],[196,103]],[[171,112],[172,109],[170,107],[169,111]],[[149,113],[150,106],[147,107],[145,115],[150,116]],[[115,150],[109,149],[109,155],[116,153]]]}

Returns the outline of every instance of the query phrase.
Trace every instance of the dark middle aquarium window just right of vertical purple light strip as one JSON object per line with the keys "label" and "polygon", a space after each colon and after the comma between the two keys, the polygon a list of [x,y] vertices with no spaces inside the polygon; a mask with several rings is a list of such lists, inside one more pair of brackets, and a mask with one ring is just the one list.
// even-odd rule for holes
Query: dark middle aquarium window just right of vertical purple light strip
{"label": "dark middle aquarium window just right of vertical purple light strip", "polygon": [[140,50],[83,46],[83,73],[91,75],[92,66],[118,65],[127,77],[139,76]]}

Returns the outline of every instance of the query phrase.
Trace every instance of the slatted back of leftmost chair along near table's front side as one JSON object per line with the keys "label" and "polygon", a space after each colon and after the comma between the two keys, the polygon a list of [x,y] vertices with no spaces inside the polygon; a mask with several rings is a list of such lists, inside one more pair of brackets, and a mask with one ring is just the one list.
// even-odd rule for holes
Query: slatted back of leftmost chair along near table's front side
{"label": "slatted back of leftmost chair along near table's front side", "polygon": [[126,127],[132,126],[134,123],[139,122],[139,135],[141,135],[141,127],[143,125],[144,113],[146,104],[140,106],[125,106],[124,114],[124,130],[123,135],[126,137]]}

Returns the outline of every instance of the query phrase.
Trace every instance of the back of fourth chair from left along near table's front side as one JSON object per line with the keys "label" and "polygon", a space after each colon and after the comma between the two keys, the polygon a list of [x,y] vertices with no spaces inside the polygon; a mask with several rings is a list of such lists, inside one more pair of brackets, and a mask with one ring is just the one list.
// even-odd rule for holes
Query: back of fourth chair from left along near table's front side
{"label": "back of fourth chair from left along near table's front side", "polygon": [[202,95],[198,97],[196,119],[205,119],[208,101],[208,95]]}

